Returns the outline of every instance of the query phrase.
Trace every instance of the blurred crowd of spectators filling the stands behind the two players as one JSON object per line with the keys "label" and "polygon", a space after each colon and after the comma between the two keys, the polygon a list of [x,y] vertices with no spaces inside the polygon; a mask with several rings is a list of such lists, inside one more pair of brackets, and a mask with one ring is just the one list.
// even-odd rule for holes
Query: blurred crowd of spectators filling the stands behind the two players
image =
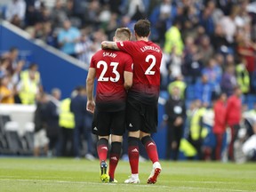
{"label": "blurred crowd of spectators filling the stands behind the two players", "polygon": [[[212,108],[220,92],[229,97],[238,85],[243,92],[243,110],[254,108],[253,0],[12,0],[4,4],[1,17],[32,38],[42,39],[83,61],[87,68],[92,54],[100,49],[102,41],[112,40],[116,28],[133,29],[136,20],[148,18],[150,39],[164,51],[162,91],[171,93],[172,85],[182,82],[181,97],[188,111],[193,111],[198,100],[198,108]],[[18,53],[10,48],[10,52],[1,55],[0,76],[1,86],[9,84],[12,77],[12,87],[20,94],[19,84],[26,81],[28,74],[21,72],[23,64],[16,60]],[[37,68],[32,70],[35,92],[43,92],[40,74]]]}

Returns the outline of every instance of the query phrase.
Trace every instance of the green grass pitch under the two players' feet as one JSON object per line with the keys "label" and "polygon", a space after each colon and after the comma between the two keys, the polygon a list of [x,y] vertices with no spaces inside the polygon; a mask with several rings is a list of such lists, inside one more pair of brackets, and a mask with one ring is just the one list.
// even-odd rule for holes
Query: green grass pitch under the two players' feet
{"label": "green grass pitch under the two players' feet", "polygon": [[151,162],[140,163],[140,184],[124,184],[128,162],[116,168],[118,183],[100,181],[99,161],[64,158],[0,158],[0,191],[256,191],[256,164],[164,162],[155,185],[146,184]]}

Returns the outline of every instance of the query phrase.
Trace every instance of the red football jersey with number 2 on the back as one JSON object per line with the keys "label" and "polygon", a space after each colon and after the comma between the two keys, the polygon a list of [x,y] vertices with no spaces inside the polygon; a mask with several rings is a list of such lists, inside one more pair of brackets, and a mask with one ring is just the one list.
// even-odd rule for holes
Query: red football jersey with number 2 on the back
{"label": "red football jersey with number 2 on the back", "polygon": [[151,99],[157,100],[160,87],[160,65],[163,56],[160,47],[150,41],[117,42],[117,46],[121,51],[132,56],[131,94],[142,102],[150,103]]}

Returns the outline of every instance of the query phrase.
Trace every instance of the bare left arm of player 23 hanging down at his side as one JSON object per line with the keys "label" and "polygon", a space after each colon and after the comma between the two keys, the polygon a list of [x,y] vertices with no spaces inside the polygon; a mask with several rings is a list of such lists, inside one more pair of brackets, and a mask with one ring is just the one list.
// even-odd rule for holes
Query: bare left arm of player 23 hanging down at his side
{"label": "bare left arm of player 23 hanging down at his side", "polygon": [[87,106],[86,109],[94,113],[95,102],[93,100],[93,88],[94,88],[94,78],[96,76],[95,68],[89,68],[89,72],[86,79],[86,92],[87,92]]}

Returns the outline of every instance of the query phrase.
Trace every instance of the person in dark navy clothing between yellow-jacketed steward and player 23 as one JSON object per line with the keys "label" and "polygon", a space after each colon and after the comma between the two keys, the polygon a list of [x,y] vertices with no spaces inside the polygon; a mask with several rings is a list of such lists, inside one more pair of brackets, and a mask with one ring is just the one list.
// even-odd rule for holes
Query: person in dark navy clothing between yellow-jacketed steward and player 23
{"label": "person in dark navy clothing between yellow-jacketed steward and player 23", "polygon": [[95,151],[93,140],[92,140],[92,115],[86,110],[87,97],[86,89],[84,86],[76,88],[77,95],[72,98],[70,103],[70,111],[75,116],[75,129],[74,129],[74,155],[76,158],[80,158],[80,146],[82,144],[81,136],[87,141],[87,151],[85,158],[94,160],[92,156]]}

